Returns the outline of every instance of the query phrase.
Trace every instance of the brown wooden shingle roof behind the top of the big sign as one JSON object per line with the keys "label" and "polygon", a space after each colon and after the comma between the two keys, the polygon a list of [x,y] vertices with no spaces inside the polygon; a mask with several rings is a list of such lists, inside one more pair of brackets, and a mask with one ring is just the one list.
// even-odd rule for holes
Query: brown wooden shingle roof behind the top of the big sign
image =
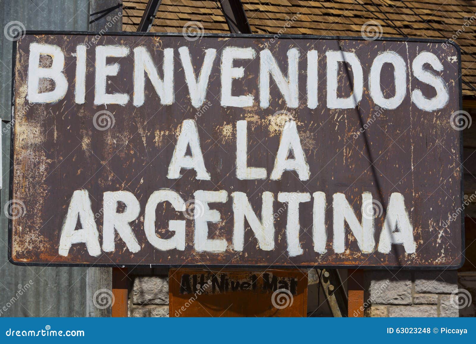
{"label": "brown wooden shingle roof behind the top of the big sign", "polygon": [[[123,30],[136,31],[147,0],[123,1]],[[476,97],[476,0],[242,0],[253,33],[361,36],[370,20],[383,37],[454,39],[462,50],[463,96]],[[152,32],[228,33],[218,1],[162,0]],[[371,23],[367,29],[377,27]],[[380,29],[379,29],[380,30]]]}

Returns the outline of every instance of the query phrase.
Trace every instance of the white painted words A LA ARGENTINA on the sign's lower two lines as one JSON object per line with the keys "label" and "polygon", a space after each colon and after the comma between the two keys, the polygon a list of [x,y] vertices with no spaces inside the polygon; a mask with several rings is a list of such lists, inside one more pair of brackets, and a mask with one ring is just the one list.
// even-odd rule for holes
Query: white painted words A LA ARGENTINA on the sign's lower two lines
{"label": "white painted words A LA ARGENTINA on the sign's lower two lines", "polygon": [[[246,120],[237,122],[236,132],[236,177],[240,180],[267,178],[268,172],[266,168],[248,167]],[[191,119],[184,120],[173,155],[170,158],[167,178],[180,178],[180,170],[183,168],[195,170],[197,179],[210,179],[210,173],[205,165],[199,142],[196,122]],[[190,147],[191,155],[186,153],[187,147]],[[291,151],[294,154],[294,158],[287,158]],[[292,120],[288,121],[283,128],[274,168],[269,178],[280,180],[285,171],[295,171],[300,180],[309,180],[310,178],[309,165],[301,147],[296,123]],[[128,191],[107,191],[103,195],[102,250],[105,252],[115,250],[115,235],[117,231],[130,252],[139,252],[142,246],[130,226],[130,223],[136,221],[139,217],[141,209],[138,199]],[[210,205],[227,202],[231,203],[234,214],[233,242],[231,245],[233,250],[243,251],[245,219],[257,238],[261,250],[270,251],[275,248],[274,222],[282,211],[275,211],[276,195],[274,193],[268,191],[262,193],[261,219],[254,212],[246,193],[232,192],[231,195],[228,195],[228,192],[225,190],[197,190],[193,196],[196,208],[201,209],[201,211],[194,212],[193,218],[194,248],[197,252],[217,253],[227,250],[227,240],[210,239],[208,231],[208,223],[218,223],[221,221],[220,213],[216,209],[210,208]],[[327,199],[325,193],[318,191],[311,195],[308,192],[278,192],[277,200],[282,204],[286,204],[288,211],[286,224],[288,256],[299,256],[304,252],[299,240],[299,204],[310,202],[311,200],[313,201],[312,238],[314,250],[317,253],[324,254],[327,242],[325,222]],[[118,212],[119,201],[126,206],[124,212]],[[176,211],[186,211],[186,200],[183,199],[179,192],[169,188],[154,191],[150,195],[145,207],[143,224],[145,235],[149,243],[158,250],[177,249],[183,251],[186,246],[185,219],[169,221],[169,230],[175,232],[173,237],[163,239],[156,234],[156,208],[163,202],[169,202]],[[332,195],[334,252],[342,253],[346,249],[346,222],[350,231],[357,239],[361,252],[372,253],[374,251],[376,246],[374,238],[376,229],[375,216],[374,214],[367,214],[369,206],[370,208],[372,207],[372,203],[372,194],[369,192],[362,193],[362,214],[361,221],[358,221],[346,196],[342,193]],[[76,229],[78,219],[82,225],[81,229]],[[61,256],[68,256],[71,245],[78,243],[84,243],[91,256],[99,256],[101,254],[99,232],[87,190],[76,190],[73,192],[68,213],[61,230],[59,254]],[[401,193],[397,192],[391,193],[389,197],[387,215],[380,232],[377,249],[381,253],[388,253],[392,244],[402,244],[407,253],[415,252],[413,226],[406,210],[404,197]]]}

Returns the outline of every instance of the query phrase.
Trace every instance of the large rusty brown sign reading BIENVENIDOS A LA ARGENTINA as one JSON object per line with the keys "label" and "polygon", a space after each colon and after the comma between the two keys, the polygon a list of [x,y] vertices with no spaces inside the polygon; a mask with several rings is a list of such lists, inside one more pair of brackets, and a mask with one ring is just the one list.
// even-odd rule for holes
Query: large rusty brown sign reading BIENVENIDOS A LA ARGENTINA
{"label": "large rusty brown sign reading BIENVENIDOS A LA ARGENTINA", "polygon": [[14,263],[462,262],[455,45],[27,32],[14,53]]}

